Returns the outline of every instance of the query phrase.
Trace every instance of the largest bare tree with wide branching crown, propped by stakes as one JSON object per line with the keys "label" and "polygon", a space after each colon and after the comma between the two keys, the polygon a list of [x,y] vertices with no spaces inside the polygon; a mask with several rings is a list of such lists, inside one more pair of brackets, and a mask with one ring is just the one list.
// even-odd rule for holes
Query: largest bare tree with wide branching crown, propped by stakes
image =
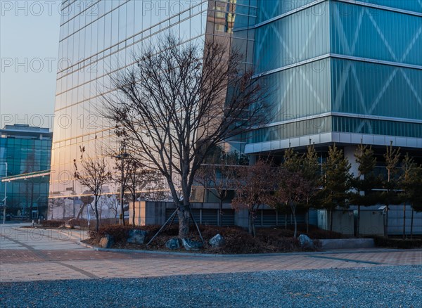
{"label": "largest bare tree with wide branching crown, propped by stakes", "polygon": [[268,115],[258,79],[241,70],[241,54],[217,41],[204,46],[163,38],[113,79],[117,92],[105,97],[105,116],[117,124],[117,135],[167,180],[179,238],[188,235],[191,188],[210,149],[259,128]]}

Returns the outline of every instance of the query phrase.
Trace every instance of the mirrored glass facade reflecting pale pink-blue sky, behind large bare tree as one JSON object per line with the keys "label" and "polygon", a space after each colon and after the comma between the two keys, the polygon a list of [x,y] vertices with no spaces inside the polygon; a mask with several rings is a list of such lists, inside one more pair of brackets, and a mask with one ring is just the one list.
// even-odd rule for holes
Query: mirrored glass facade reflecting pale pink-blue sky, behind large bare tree
{"label": "mirrored glass facade reflecting pale pink-blue sky, behind large bare tree", "polygon": [[[98,117],[101,96],[113,92],[110,77],[130,68],[134,54],[139,56],[169,33],[195,44],[203,44],[205,37],[227,39],[233,35],[234,44],[244,51],[245,65],[252,65],[256,2],[63,1],[49,218],[72,217],[75,206],[79,207],[74,197],[85,190],[73,179],[79,146],[96,157],[103,155],[98,150],[101,145],[112,142],[113,125]],[[104,191],[116,190],[110,185]],[[69,208],[53,210],[59,201]]]}

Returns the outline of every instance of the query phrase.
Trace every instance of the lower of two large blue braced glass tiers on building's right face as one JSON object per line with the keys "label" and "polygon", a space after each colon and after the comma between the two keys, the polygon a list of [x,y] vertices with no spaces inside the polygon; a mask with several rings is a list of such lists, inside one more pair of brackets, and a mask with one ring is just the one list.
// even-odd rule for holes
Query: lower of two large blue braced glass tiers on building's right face
{"label": "lower of two large blue braced glass tiers on building's right face", "polygon": [[333,112],[422,119],[422,70],[331,60]]}

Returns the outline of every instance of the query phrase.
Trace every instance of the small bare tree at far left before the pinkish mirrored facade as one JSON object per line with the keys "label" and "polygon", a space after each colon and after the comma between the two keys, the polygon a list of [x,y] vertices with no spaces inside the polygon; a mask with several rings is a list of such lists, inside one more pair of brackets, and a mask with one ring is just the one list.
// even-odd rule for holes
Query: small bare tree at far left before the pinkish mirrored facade
{"label": "small bare tree at far left before the pinkish mirrored facade", "polygon": [[101,197],[103,191],[103,185],[107,184],[111,179],[111,172],[108,170],[108,165],[104,158],[91,158],[85,153],[84,147],[79,147],[81,152],[79,166],[77,160],[73,160],[75,167],[75,179],[82,186],[86,186],[89,191],[94,195],[94,212],[96,218],[95,229],[98,231],[100,224],[98,217],[98,200]]}

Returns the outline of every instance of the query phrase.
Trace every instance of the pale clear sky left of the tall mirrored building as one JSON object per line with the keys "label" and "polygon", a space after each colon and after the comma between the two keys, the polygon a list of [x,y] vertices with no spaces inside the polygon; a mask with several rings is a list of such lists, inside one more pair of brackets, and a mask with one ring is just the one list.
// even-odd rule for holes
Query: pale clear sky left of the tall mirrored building
{"label": "pale clear sky left of the tall mirrored building", "polygon": [[0,127],[52,129],[61,1],[0,0]]}

